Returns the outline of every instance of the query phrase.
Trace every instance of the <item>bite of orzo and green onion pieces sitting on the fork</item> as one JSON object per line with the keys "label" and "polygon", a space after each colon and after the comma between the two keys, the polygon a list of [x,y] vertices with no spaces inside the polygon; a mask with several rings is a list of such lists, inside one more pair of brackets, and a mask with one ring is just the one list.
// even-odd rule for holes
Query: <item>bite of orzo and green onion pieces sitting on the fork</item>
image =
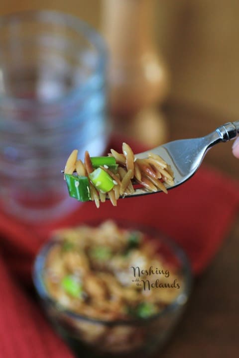
{"label": "bite of orzo and green onion pieces sitting on the fork", "polygon": [[79,201],[93,200],[97,207],[106,198],[116,206],[119,197],[134,193],[135,184],[146,191],[165,193],[166,185],[174,185],[172,169],[160,156],[148,153],[147,158],[135,158],[126,143],[122,153],[111,149],[108,157],[90,157],[86,151],[84,164],[77,155],[73,150],[65,166],[69,194]]}

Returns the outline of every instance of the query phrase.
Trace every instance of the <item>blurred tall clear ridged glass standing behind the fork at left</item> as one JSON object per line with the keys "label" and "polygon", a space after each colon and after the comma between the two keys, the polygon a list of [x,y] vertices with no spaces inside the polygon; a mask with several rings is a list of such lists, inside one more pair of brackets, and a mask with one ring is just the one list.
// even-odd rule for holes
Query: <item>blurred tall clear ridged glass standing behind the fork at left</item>
{"label": "blurred tall clear ridged glass standing behind the fork at left", "polygon": [[61,174],[73,149],[107,144],[106,49],[101,36],[54,11],[0,17],[0,201],[26,221],[79,205]]}

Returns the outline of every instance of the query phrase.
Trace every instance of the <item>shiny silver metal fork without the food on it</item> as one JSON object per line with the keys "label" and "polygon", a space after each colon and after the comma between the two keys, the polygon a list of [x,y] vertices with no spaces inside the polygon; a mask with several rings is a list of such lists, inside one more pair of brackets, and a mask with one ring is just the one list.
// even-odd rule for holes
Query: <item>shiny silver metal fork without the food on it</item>
{"label": "shiny silver metal fork without the food on it", "polygon": [[[238,134],[239,121],[229,122],[219,126],[214,132],[205,137],[169,142],[150,151],[135,154],[135,158],[146,158],[148,152],[163,158],[171,166],[174,173],[174,185],[165,185],[167,189],[172,189],[184,183],[196,173],[209,149],[218,143],[235,139]],[[137,188],[134,193],[125,195],[125,197],[152,194],[159,191],[162,190],[152,192],[146,191],[144,188]]]}

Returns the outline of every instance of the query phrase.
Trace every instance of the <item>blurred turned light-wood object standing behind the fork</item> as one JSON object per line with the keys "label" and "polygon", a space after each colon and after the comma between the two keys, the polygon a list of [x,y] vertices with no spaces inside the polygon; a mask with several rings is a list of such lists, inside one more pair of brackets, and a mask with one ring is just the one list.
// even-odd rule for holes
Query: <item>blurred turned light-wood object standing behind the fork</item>
{"label": "blurred turned light-wood object standing behind the fork", "polygon": [[158,104],[169,80],[153,40],[153,8],[154,0],[104,0],[103,32],[110,50],[109,101],[115,128],[158,145],[167,139]]}

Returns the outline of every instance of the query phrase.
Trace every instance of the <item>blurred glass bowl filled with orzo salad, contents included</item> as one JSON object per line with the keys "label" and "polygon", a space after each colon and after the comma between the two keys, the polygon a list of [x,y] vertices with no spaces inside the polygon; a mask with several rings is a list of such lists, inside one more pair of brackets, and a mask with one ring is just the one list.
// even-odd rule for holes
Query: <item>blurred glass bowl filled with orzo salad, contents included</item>
{"label": "blurred glass bowl filled with orzo salad, contents included", "polygon": [[147,357],[178,322],[191,269],[182,249],[157,230],[108,220],[55,231],[33,280],[77,357]]}

